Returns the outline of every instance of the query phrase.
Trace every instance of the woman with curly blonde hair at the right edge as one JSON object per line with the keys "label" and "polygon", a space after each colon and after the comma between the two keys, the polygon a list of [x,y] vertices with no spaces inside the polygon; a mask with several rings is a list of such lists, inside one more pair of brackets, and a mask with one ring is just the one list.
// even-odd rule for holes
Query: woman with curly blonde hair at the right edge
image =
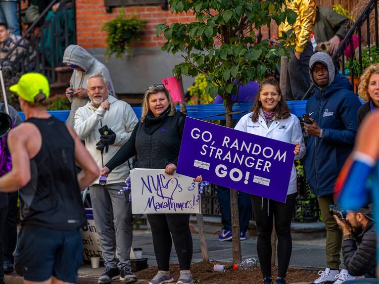
{"label": "woman with curly blonde hair at the right edge", "polygon": [[369,112],[379,110],[379,63],[364,70],[358,86],[358,95],[366,102],[358,110],[358,126]]}

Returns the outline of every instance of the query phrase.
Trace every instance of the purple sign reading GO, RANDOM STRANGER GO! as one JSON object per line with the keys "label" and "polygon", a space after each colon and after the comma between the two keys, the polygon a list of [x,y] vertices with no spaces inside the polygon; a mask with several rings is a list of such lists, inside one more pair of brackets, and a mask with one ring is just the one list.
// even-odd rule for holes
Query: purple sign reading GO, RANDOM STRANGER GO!
{"label": "purple sign reading GO, RANDOM STRANGER GO!", "polygon": [[286,202],[294,145],[187,117],[177,173]]}

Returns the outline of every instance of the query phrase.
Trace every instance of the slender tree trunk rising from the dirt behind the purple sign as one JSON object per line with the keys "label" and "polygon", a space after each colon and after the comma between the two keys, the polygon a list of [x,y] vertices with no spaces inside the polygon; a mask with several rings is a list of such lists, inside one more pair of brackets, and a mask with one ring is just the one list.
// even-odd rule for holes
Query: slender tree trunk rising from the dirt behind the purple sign
{"label": "slender tree trunk rising from the dirt behind the purple sign", "polygon": [[[231,112],[233,103],[226,102],[225,112]],[[226,115],[226,127],[233,127],[233,116],[231,114]],[[237,192],[230,188],[230,213],[231,213],[231,233],[233,235],[232,239],[232,250],[233,250],[233,263],[238,263],[242,260],[241,253],[241,240],[240,240],[240,217],[238,212],[238,200]]]}

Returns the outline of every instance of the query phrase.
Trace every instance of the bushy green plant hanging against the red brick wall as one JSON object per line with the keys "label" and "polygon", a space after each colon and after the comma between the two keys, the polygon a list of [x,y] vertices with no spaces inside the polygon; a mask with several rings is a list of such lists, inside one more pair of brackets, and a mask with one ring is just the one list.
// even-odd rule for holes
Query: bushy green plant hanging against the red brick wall
{"label": "bushy green plant hanging against the red brick wall", "polygon": [[125,17],[125,12],[120,9],[120,15],[109,22],[104,23],[102,30],[107,32],[107,50],[105,55],[107,60],[114,54],[117,58],[124,58],[125,51],[132,58],[131,44],[140,40],[139,32],[144,30],[147,20],[138,19],[137,15],[132,14],[129,18]]}

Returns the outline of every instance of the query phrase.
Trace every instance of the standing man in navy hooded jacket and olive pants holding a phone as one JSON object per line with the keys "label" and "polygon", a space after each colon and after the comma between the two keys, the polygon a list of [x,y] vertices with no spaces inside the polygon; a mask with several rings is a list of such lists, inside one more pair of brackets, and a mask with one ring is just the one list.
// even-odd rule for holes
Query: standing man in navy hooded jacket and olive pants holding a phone
{"label": "standing man in navy hooded jacket and olive pants holding a phone", "polygon": [[342,233],[329,214],[329,204],[335,204],[334,185],[353,150],[361,103],[349,80],[338,72],[328,54],[314,54],[309,61],[309,73],[316,89],[306,106],[306,113],[313,123],[304,124],[309,135],[304,169],[326,227],[327,264],[313,283],[331,284],[340,274]]}

